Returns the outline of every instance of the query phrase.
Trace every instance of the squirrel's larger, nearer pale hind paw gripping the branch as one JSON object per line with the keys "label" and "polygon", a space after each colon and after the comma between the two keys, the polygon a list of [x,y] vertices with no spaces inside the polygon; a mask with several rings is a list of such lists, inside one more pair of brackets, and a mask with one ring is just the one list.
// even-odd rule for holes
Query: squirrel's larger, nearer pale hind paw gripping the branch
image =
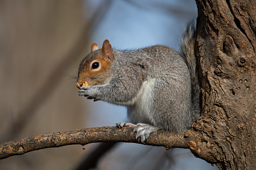
{"label": "squirrel's larger, nearer pale hind paw gripping the branch", "polygon": [[138,123],[134,128],[134,132],[136,133],[136,139],[140,138],[141,142],[145,143],[149,134],[158,129],[158,127],[154,127],[150,124]]}

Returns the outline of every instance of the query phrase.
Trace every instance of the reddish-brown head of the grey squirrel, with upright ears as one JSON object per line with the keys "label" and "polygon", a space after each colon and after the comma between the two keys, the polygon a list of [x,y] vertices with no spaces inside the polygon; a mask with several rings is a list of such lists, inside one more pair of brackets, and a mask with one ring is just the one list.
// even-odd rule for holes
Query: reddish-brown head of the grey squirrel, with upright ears
{"label": "reddish-brown head of the grey squirrel, with upright ears", "polygon": [[99,49],[99,46],[94,43],[91,51],[79,65],[77,88],[81,88],[86,82],[90,86],[103,85],[111,78],[110,66],[114,61],[114,53],[109,41],[103,42],[102,49]]}

